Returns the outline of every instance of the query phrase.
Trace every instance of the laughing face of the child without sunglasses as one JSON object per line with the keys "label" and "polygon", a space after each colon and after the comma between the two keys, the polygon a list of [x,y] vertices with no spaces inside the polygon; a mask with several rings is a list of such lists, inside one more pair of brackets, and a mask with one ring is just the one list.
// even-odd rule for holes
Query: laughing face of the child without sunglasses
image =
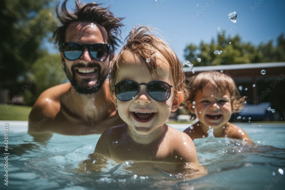
{"label": "laughing face of the child without sunglasses", "polygon": [[[219,128],[225,126],[232,115],[231,98],[229,93],[225,95],[217,93],[215,87],[207,84],[202,91],[198,91],[195,104],[188,104],[191,113],[195,113],[200,123],[205,127]],[[193,108],[194,106],[194,108]]]}

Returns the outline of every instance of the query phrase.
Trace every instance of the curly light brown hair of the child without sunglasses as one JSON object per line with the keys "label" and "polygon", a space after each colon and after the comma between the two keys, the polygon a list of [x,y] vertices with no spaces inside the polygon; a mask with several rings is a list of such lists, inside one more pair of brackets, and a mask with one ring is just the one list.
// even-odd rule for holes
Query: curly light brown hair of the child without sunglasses
{"label": "curly light brown hair of the child without sunglasses", "polygon": [[[216,88],[213,92],[213,96],[217,95],[219,92],[222,94],[229,93],[231,98],[231,107],[233,112],[237,113],[244,106],[245,96],[239,94],[239,90],[235,85],[235,81],[227,74],[221,73],[219,71],[204,71],[195,75],[194,77],[187,78],[189,81],[184,89],[184,101],[190,106],[193,105],[194,98],[198,91],[202,91],[203,87],[206,85],[212,85]],[[212,98],[212,97],[209,97]],[[196,115],[190,113],[190,118],[192,120],[196,119]]]}

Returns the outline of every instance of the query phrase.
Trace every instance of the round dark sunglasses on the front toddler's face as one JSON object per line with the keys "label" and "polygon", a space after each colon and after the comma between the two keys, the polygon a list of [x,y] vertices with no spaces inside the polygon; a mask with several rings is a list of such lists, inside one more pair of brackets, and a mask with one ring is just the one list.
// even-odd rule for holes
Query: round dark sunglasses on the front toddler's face
{"label": "round dark sunglasses on the front toddler's face", "polygon": [[159,102],[164,102],[170,97],[171,87],[173,87],[164,81],[152,81],[148,84],[138,84],[134,81],[128,80],[120,81],[113,87],[115,87],[115,95],[117,99],[121,101],[129,101],[137,95],[141,85],[145,85],[148,95]]}

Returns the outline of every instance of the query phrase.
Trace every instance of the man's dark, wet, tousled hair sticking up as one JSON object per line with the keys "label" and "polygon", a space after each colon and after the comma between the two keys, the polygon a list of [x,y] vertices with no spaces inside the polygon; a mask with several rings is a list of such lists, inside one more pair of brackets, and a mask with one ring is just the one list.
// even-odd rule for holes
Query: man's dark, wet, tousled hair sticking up
{"label": "man's dark, wet, tousled hair sticking up", "polygon": [[75,4],[77,9],[75,9],[74,12],[69,12],[66,9],[66,2],[68,0],[65,0],[62,3],[61,10],[59,12],[59,3],[56,7],[56,14],[58,16],[58,19],[63,24],[62,26],[58,27],[54,31],[53,37],[56,37],[56,42],[58,44],[62,44],[65,41],[65,32],[66,28],[73,22],[90,22],[94,24],[99,24],[105,28],[107,31],[108,36],[108,43],[111,44],[112,49],[115,50],[115,46],[118,46],[119,36],[121,34],[121,27],[123,24],[121,23],[121,20],[123,18],[117,18],[108,11],[108,7],[100,7],[97,3],[89,3],[87,5],[81,4],[79,0],[75,0]]}

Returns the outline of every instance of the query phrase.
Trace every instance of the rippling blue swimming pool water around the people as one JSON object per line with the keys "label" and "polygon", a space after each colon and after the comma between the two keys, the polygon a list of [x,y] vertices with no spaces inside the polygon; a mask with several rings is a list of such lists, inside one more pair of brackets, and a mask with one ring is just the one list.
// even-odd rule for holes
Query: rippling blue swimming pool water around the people
{"label": "rippling blue swimming pool water around the people", "polygon": [[[9,123],[9,139],[4,135],[5,123]],[[169,125],[180,131],[189,126]],[[150,175],[135,173],[128,168],[143,166],[133,162],[110,166],[103,173],[82,173],[76,168],[94,152],[100,135],[53,134],[49,140],[35,141],[27,134],[27,121],[0,121],[0,187],[30,190],[284,189],[285,123],[238,125],[255,141],[255,147],[230,138],[196,139],[198,159],[208,175],[183,180],[161,170]],[[4,149],[5,138],[9,140],[8,151]],[[9,186],[4,185],[5,178]]]}

